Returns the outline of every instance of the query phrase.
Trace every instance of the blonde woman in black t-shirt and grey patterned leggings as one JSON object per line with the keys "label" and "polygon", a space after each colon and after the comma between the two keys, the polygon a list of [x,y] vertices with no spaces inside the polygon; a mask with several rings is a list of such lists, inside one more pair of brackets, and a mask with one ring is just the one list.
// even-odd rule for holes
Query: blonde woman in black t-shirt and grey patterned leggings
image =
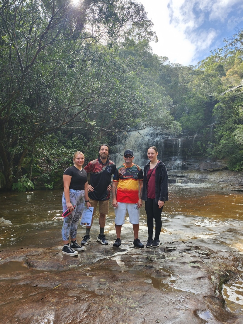
{"label": "blonde woman in black t-shirt and grey patterned leggings", "polygon": [[[62,253],[66,255],[77,255],[77,251],[85,250],[85,247],[76,242],[77,223],[82,216],[85,203],[91,207],[88,200],[87,172],[82,168],[84,164],[84,154],[77,151],[74,154],[74,165],[67,168],[63,174],[63,212],[67,209],[71,212],[64,218],[62,227],[62,237],[64,247]],[[75,207],[74,207],[75,206]],[[69,236],[71,243],[69,246]]]}

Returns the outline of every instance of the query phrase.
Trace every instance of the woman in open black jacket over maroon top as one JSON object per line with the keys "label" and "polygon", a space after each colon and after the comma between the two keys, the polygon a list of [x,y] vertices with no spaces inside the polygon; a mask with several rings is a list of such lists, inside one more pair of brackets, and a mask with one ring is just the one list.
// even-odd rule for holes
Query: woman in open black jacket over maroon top
{"label": "woman in open black jacket over maroon top", "polygon": [[[147,152],[149,162],[144,167],[144,185],[142,199],[145,200],[147,214],[148,241],[146,248],[160,245],[159,234],[162,222],[161,213],[166,200],[168,200],[168,174],[164,163],[157,159],[158,150],[151,146]],[[153,229],[155,219],[155,237]]]}

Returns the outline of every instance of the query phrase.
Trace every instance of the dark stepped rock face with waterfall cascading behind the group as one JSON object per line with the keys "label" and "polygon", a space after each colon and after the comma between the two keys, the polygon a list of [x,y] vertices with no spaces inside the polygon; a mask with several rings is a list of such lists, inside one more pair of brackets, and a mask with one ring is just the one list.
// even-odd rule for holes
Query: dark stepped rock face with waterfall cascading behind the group
{"label": "dark stepped rock face with waterfall cascading behind the group", "polygon": [[227,170],[226,160],[212,161],[207,158],[189,158],[187,152],[194,143],[202,139],[201,135],[188,137],[166,136],[153,129],[133,131],[119,138],[111,159],[122,164],[125,149],[132,149],[134,163],[144,167],[148,162],[147,149],[156,146],[158,158],[168,169],[170,183],[206,183],[218,189],[243,191],[243,174]]}

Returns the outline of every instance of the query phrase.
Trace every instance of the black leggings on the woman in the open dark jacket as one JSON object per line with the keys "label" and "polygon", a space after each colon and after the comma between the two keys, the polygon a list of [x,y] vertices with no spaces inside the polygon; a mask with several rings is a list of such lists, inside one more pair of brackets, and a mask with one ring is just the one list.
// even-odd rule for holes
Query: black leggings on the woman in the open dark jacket
{"label": "black leggings on the woman in the open dark jacket", "polygon": [[155,219],[155,239],[159,238],[161,232],[162,222],[161,213],[163,207],[159,209],[158,203],[155,199],[147,198],[145,201],[145,211],[147,214],[148,238],[153,239],[154,219]]}

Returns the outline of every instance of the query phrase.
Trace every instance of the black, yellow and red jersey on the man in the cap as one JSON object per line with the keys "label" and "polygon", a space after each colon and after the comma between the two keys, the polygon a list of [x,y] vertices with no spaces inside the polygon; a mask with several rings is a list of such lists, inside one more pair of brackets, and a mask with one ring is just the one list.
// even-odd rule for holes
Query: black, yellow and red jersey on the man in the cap
{"label": "black, yellow and red jersey on the man in the cap", "polygon": [[131,167],[121,165],[114,173],[113,181],[118,182],[116,200],[118,203],[137,203],[139,181],[143,181],[142,169],[133,164]]}

